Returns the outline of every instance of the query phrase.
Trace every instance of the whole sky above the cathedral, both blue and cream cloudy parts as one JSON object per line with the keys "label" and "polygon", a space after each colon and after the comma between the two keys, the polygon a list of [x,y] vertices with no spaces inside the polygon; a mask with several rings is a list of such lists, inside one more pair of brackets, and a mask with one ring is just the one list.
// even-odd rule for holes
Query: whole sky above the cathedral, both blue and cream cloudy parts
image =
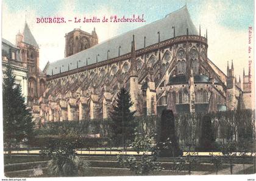
{"label": "whole sky above the cathedral, both blue and cream cloudy parts", "polygon": [[[208,58],[226,73],[233,60],[235,74],[248,70],[248,27],[254,26],[253,0],[125,0],[125,1],[2,1],[2,37],[15,44],[15,35],[23,32],[25,20],[40,46],[40,68],[64,57],[65,33],[74,28],[91,32],[96,28],[99,43],[129,30],[160,20],[187,3],[191,20],[202,35],[208,30]],[[37,24],[36,18],[91,17],[144,14],[144,23]],[[231,64],[231,63],[230,63]],[[237,76],[238,78],[239,76]]]}

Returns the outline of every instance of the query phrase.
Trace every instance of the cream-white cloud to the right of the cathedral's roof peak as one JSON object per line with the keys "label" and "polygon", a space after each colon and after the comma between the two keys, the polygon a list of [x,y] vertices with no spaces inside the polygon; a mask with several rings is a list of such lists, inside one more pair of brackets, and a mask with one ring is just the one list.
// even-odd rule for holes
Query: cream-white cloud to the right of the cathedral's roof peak
{"label": "cream-white cloud to the right of the cathedral's roof peak", "polygon": [[[235,29],[234,27],[224,26],[220,23],[221,18],[226,16],[229,6],[222,1],[208,1],[201,5],[197,16],[196,26],[201,24],[202,35],[205,29],[208,30],[208,57],[219,68],[226,73],[227,61],[231,65],[231,60],[235,66],[237,79],[243,75],[243,68],[248,70],[248,32],[245,29]],[[242,8],[238,10],[243,10]],[[239,14],[239,12],[238,12]]]}

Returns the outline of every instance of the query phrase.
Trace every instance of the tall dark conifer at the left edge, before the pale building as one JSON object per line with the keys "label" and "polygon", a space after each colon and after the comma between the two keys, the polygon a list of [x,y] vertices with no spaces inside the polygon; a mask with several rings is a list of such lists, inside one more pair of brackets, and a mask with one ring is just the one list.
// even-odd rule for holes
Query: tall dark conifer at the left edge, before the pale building
{"label": "tall dark conifer at the left edge, before the pale building", "polygon": [[16,144],[29,144],[34,137],[34,122],[32,114],[25,104],[25,99],[21,94],[21,87],[15,84],[15,76],[10,65],[4,71],[2,85],[2,104],[4,119],[4,143],[9,149]]}

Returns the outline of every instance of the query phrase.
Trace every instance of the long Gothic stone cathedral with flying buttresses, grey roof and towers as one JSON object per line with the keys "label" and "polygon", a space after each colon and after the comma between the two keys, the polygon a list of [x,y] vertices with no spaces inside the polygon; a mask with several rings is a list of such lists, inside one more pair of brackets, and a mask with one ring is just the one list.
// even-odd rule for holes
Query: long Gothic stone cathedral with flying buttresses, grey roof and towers
{"label": "long Gothic stone cathedral with flying buttresses, grey roof and towers", "polygon": [[225,74],[208,59],[207,31],[204,36],[200,27],[197,31],[186,6],[102,43],[96,29],[69,32],[65,58],[44,68],[44,92],[41,80],[33,76],[38,67],[38,46],[33,44],[30,52],[27,44],[18,43],[21,55],[29,60],[29,95],[40,96],[32,105],[34,118],[42,123],[107,119],[122,87],[129,91],[130,109],[138,116],[159,115],[165,108],[174,113],[251,108],[249,76],[244,73],[241,83],[233,61],[227,63]]}

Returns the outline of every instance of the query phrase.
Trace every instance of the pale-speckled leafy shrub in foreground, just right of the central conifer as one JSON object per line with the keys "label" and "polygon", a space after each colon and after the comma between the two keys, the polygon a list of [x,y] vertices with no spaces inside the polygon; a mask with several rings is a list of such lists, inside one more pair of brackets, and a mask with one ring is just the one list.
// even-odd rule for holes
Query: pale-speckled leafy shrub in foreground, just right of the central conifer
{"label": "pale-speckled leafy shrub in foreground, just right of the central conifer", "polygon": [[[154,146],[154,137],[135,133],[135,139],[130,146],[138,153],[142,152],[137,158],[134,156],[125,157],[121,154],[117,156],[119,165],[129,168],[136,175],[146,176],[153,171],[160,171],[162,167],[158,163],[158,152]],[[149,155],[148,151],[152,151]]]}

